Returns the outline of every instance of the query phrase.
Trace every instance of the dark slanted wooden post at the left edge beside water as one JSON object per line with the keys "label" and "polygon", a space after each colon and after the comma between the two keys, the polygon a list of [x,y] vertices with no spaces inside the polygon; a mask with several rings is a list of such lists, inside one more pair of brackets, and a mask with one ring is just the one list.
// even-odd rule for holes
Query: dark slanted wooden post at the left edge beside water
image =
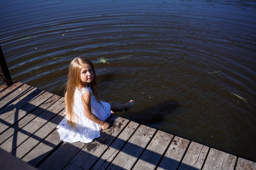
{"label": "dark slanted wooden post at the left edge beside water", "polygon": [[11,84],[13,84],[1,46],[0,46],[0,79],[2,80],[2,83],[6,86],[10,86]]}

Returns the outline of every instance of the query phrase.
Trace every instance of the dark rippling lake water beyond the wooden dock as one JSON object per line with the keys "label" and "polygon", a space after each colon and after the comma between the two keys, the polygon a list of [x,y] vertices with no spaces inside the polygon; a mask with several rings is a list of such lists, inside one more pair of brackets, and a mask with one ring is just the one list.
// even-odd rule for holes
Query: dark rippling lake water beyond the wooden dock
{"label": "dark rippling lake water beyond the wooden dock", "polygon": [[256,161],[255,0],[1,0],[0,16],[14,81],[63,96],[85,56],[101,99],[136,101],[117,115]]}

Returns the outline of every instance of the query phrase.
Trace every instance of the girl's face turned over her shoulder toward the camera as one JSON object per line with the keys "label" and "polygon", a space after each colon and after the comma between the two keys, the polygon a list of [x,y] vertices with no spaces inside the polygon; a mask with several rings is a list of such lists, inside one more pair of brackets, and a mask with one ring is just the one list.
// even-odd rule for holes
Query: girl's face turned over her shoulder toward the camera
{"label": "girl's face turned over her shoulder toward the camera", "polygon": [[94,73],[92,71],[92,66],[89,64],[83,64],[81,72],[80,72],[80,79],[83,82],[84,86],[89,86],[89,83],[92,82],[94,77]]}

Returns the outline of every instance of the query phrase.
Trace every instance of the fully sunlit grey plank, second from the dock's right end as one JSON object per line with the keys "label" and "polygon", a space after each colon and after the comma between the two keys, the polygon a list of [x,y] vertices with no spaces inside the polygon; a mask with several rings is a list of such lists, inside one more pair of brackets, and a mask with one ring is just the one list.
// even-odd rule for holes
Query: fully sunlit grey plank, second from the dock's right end
{"label": "fully sunlit grey plank, second from the dock's right end", "polygon": [[237,157],[211,148],[202,170],[234,170]]}

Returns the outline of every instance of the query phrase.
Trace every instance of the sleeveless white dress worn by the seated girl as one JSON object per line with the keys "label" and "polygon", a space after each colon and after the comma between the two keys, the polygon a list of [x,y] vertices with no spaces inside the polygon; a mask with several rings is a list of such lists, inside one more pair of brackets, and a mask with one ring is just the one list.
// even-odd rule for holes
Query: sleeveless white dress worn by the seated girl
{"label": "sleeveless white dress worn by the seated girl", "polygon": [[107,102],[99,102],[92,95],[92,90],[90,87],[76,88],[74,95],[74,106],[73,111],[76,113],[75,116],[76,127],[71,128],[67,124],[67,117],[62,119],[62,121],[58,124],[58,133],[60,134],[60,138],[63,141],[67,142],[77,142],[81,141],[84,143],[90,143],[94,138],[100,137],[101,126],[99,124],[94,123],[90,119],[85,116],[85,112],[83,109],[82,95],[85,92],[91,93],[91,109],[92,113],[96,115],[99,119],[105,121],[110,116],[110,104]]}

